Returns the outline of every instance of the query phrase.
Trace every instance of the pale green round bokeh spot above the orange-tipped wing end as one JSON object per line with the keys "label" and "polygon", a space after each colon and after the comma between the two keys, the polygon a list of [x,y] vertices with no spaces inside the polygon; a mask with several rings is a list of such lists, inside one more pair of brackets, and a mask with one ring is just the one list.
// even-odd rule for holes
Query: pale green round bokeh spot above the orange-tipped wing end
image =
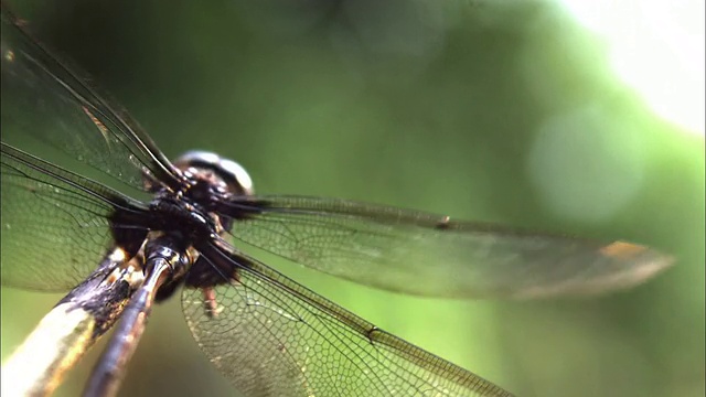
{"label": "pale green round bokeh spot above the orange-tipped wing end", "polygon": [[639,193],[645,167],[640,131],[588,106],[539,127],[527,170],[541,201],[558,216],[600,223]]}

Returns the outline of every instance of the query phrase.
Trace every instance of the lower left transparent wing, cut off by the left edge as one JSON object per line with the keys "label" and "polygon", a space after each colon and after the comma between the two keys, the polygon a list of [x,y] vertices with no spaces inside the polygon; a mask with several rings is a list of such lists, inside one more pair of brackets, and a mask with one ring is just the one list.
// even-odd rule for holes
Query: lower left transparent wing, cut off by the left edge
{"label": "lower left transparent wing, cut off by the left edge", "polygon": [[[64,291],[114,244],[109,218],[136,204],[107,187],[0,143],[3,286]],[[114,225],[119,227],[119,224]]]}

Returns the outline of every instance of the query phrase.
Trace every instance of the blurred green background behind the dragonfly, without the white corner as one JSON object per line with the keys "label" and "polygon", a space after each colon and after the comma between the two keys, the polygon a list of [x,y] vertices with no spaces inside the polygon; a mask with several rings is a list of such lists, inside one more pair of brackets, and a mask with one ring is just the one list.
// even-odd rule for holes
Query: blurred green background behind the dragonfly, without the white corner
{"label": "blurred green background behind the dragonfly, without the white corner", "polygon": [[[259,193],[673,254],[674,268],[631,291],[539,302],[417,299],[274,265],[520,396],[704,395],[704,140],[653,115],[611,74],[601,42],[553,3],[11,4],[168,157],[217,151]],[[2,288],[3,358],[60,298]],[[81,391],[100,345],[57,395]],[[157,308],[121,395],[234,393],[179,299]]]}

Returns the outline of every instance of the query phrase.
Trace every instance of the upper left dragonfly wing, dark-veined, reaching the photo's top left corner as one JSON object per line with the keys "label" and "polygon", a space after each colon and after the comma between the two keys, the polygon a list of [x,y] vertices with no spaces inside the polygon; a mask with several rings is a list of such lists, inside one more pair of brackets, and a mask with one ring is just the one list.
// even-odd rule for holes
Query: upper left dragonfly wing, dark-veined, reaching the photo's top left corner
{"label": "upper left dragonfly wing, dark-veined, reaching the photo's top left corner", "polygon": [[51,148],[71,169],[84,163],[113,180],[142,190],[142,171],[172,183],[163,154],[127,112],[110,106],[81,77],[22,29],[24,21],[2,7],[2,141],[25,151]]}

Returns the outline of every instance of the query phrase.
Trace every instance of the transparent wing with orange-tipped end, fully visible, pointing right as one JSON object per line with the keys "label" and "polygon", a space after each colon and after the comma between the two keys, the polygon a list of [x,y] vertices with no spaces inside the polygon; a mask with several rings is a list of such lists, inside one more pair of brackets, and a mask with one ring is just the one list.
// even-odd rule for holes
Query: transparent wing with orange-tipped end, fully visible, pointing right
{"label": "transparent wing with orange-tipped end, fully visible, pointing right", "polygon": [[238,198],[222,211],[233,236],[355,282],[449,298],[590,294],[637,285],[672,259],[624,242],[600,244],[457,222],[335,198]]}

